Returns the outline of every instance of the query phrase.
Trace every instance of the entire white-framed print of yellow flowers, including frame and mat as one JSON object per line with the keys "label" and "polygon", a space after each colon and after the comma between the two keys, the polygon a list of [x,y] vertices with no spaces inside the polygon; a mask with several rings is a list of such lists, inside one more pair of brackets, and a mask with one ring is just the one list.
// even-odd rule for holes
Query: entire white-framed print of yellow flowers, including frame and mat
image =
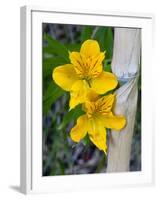
{"label": "entire white-framed print of yellow flowers, including frame and mat", "polygon": [[21,8],[21,191],[153,183],[146,14]]}

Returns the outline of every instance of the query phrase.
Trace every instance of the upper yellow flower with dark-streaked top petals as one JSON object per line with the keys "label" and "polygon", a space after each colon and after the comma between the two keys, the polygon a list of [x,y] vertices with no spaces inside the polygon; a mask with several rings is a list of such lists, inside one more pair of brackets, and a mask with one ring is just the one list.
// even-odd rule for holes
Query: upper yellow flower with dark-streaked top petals
{"label": "upper yellow flower with dark-streaked top petals", "polygon": [[70,92],[70,109],[84,103],[90,88],[104,94],[117,86],[114,74],[103,70],[105,52],[100,52],[96,40],[86,40],[80,52],[70,52],[71,64],[58,66],[52,77],[57,85]]}

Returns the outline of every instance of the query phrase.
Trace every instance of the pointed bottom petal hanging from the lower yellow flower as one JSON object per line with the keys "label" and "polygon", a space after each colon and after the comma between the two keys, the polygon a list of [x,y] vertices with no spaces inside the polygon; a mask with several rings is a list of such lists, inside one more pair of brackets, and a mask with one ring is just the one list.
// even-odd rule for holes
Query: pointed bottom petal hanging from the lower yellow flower
{"label": "pointed bottom petal hanging from the lower yellow flower", "polygon": [[95,144],[99,150],[104,151],[104,153],[106,154],[106,129],[104,128],[100,120],[98,120],[97,118],[89,119],[88,134],[93,144]]}

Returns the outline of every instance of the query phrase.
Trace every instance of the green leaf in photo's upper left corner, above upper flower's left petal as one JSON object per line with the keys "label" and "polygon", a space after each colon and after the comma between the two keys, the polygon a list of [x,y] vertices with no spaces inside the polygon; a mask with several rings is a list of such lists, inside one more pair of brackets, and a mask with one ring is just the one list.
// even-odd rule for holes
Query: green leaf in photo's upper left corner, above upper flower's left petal
{"label": "green leaf in photo's upper left corner, above upper flower's left petal", "polygon": [[44,34],[43,39],[47,42],[47,46],[43,48],[44,53],[62,56],[66,62],[69,62],[68,50],[63,44],[48,34]]}

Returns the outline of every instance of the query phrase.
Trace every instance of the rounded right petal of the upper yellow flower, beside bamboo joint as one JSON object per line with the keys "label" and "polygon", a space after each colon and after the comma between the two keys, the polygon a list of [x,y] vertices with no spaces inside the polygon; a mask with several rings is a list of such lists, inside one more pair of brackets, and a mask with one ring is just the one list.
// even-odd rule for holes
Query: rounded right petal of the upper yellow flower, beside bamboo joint
{"label": "rounded right petal of the upper yellow flower, beside bamboo joint", "polygon": [[118,81],[114,74],[109,72],[102,72],[97,78],[92,79],[91,87],[98,94],[104,94],[114,89],[117,84]]}

